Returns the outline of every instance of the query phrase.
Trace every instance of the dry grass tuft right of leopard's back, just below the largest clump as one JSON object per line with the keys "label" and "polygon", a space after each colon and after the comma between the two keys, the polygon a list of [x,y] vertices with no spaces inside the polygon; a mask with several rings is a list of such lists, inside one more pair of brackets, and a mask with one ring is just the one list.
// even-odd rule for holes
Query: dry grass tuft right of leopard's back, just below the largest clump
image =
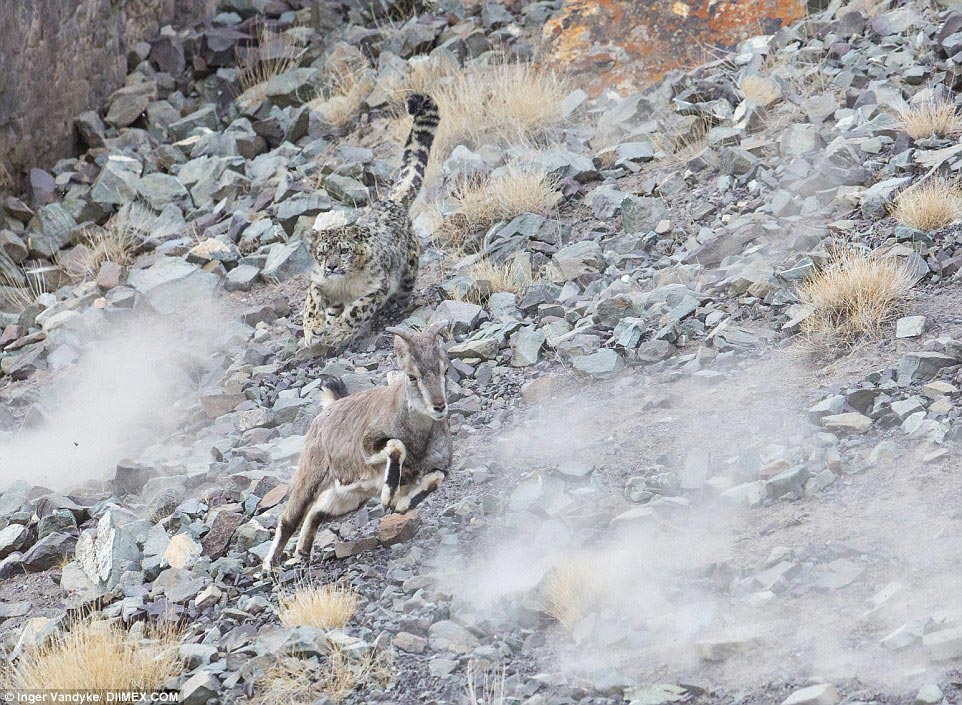
{"label": "dry grass tuft right of leopard's back, just below the largest clump", "polygon": [[560,201],[556,180],[530,167],[509,166],[496,176],[458,184],[451,194],[457,213],[442,223],[438,236],[455,250],[463,250],[478,231],[499,220],[522,213],[548,215]]}

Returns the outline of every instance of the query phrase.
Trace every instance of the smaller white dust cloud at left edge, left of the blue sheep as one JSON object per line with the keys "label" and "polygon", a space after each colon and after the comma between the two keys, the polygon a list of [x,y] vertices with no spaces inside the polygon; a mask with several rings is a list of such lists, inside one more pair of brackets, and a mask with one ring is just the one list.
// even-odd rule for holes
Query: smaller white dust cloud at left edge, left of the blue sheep
{"label": "smaller white dust cloud at left edge, left of the blue sheep", "polygon": [[142,313],[82,332],[77,363],[38,390],[29,427],[0,440],[0,490],[109,479],[118,461],[162,440],[198,408],[227,320],[215,302],[195,302],[189,316]]}

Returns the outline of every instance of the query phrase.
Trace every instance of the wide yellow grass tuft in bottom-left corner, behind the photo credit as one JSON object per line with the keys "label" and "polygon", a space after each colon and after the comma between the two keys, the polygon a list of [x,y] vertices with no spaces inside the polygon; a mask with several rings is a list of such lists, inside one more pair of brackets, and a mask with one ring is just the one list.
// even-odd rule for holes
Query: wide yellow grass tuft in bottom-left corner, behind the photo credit
{"label": "wide yellow grass tuft in bottom-left corner, behind the photo credit", "polygon": [[157,690],[180,674],[180,637],[155,631],[146,639],[120,627],[84,622],[27,651],[0,681],[11,690]]}

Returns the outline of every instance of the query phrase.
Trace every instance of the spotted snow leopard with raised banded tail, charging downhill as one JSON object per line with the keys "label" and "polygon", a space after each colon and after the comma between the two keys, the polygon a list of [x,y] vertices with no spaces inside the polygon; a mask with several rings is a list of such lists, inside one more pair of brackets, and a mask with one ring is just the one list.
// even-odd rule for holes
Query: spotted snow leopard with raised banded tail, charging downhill
{"label": "spotted snow leopard with raised banded tail, charging downhill", "polygon": [[414,289],[421,248],[408,208],[421,190],[439,115],[437,104],[421,94],[408,98],[407,109],[414,125],[391,191],[351,225],[313,233],[304,341],[318,351],[343,347],[388,303],[405,301]]}

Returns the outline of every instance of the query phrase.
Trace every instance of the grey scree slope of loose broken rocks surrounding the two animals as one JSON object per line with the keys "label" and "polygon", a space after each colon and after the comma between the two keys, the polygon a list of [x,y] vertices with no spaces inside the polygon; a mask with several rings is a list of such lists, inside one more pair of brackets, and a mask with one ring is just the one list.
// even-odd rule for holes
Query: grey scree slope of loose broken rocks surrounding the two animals
{"label": "grey scree slope of loose broken rocks surrounding the two animals", "polygon": [[[962,697],[962,236],[886,210],[962,163],[896,116],[957,88],[962,15],[834,2],[645,91],[571,86],[523,155],[562,202],[480,238],[538,274],[520,293],[446,252],[422,204],[416,307],[395,317],[452,323],[456,467],[416,514],[371,503],[322,531],[308,577],[361,599],[319,630],[281,626],[299,576],[257,566],[319,376],[382,384],[392,354],[372,335],[302,359],[304,235],[389,183],[399,72],[530,57],[558,3],[220,9],[135,51],[127,86],[78,117],[89,151],[0,210],[8,663],[95,609],[181,624],[169,685],[190,703],[264,699],[278,659],[321,674],[335,648],[390,660],[357,703],[464,702],[479,662],[529,705]],[[296,58],[244,91],[265,15]],[[357,54],[365,95],[336,128],[313,101]],[[516,153],[439,155],[428,199]],[[82,277],[92,227],[131,233],[136,259]],[[911,315],[825,362],[798,339],[798,286],[840,239],[910,268]]]}

